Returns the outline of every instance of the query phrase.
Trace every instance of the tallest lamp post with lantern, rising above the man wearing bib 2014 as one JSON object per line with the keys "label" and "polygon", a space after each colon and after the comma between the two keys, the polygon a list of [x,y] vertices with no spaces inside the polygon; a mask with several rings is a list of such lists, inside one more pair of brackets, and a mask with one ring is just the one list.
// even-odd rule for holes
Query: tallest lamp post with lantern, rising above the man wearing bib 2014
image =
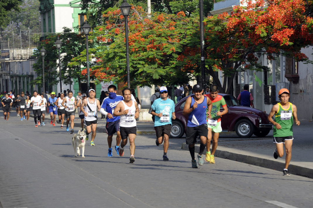
{"label": "tallest lamp post with lantern, rising above the man wearing bib 2014", "polygon": [[129,5],[126,0],[123,0],[123,3],[120,6],[122,15],[124,16],[125,19],[125,40],[126,40],[126,70],[127,70],[127,87],[130,88],[130,80],[131,80],[131,75],[129,73],[129,46],[128,46],[128,15],[129,11],[131,10],[131,5]]}

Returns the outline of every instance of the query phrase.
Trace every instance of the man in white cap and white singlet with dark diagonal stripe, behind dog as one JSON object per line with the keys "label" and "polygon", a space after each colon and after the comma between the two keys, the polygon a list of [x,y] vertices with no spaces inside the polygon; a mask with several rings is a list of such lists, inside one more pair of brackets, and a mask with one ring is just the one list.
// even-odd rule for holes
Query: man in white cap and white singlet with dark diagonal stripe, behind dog
{"label": "man in white cap and white singlet with dark diagonal stripe, behind dog", "polygon": [[81,111],[85,115],[85,125],[86,125],[86,140],[89,138],[89,134],[92,131],[91,134],[91,141],[90,146],[95,146],[94,140],[96,136],[96,128],[98,123],[98,114],[97,114],[97,108],[98,111],[100,111],[100,101],[95,98],[95,90],[90,89],[89,97],[83,100],[83,103],[80,105],[82,106]]}

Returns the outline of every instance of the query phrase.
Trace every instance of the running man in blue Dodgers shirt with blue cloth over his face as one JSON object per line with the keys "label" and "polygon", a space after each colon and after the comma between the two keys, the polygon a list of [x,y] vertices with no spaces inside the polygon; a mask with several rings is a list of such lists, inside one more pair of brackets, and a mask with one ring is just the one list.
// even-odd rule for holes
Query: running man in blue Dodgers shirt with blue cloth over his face
{"label": "running man in blue Dodgers shirt with blue cloth over his face", "polygon": [[119,155],[120,146],[118,146],[121,142],[121,134],[120,134],[120,116],[113,116],[114,109],[117,103],[123,100],[121,95],[116,95],[116,87],[115,85],[110,85],[108,87],[109,97],[106,97],[103,100],[100,113],[106,116],[106,126],[105,131],[108,134],[108,157],[112,157],[112,138],[113,134],[116,132],[116,145],[115,150],[116,154]]}

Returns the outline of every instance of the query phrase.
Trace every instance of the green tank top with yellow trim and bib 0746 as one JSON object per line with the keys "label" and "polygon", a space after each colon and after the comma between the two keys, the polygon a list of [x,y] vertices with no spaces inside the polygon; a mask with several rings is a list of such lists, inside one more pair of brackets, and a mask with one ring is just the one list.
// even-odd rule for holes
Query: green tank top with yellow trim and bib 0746
{"label": "green tank top with yellow trim and bib 0746", "polygon": [[275,122],[279,123],[281,129],[276,129],[274,126],[274,137],[285,137],[293,136],[292,125],[293,125],[293,116],[292,116],[292,103],[289,102],[289,108],[284,109],[280,103],[278,103],[279,110],[275,113]]}

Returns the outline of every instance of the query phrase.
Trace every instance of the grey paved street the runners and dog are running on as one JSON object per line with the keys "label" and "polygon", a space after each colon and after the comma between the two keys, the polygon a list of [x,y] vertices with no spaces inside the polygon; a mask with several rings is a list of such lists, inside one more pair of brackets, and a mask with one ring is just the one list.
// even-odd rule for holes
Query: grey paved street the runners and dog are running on
{"label": "grey paved street the runners and dog are running on", "polygon": [[162,161],[155,136],[138,135],[130,164],[129,144],[124,157],[108,158],[107,135],[97,133],[85,158],[74,158],[65,128],[15,115],[0,117],[0,208],[312,207],[313,179],[222,158],[192,169],[184,138],[170,139]]}

